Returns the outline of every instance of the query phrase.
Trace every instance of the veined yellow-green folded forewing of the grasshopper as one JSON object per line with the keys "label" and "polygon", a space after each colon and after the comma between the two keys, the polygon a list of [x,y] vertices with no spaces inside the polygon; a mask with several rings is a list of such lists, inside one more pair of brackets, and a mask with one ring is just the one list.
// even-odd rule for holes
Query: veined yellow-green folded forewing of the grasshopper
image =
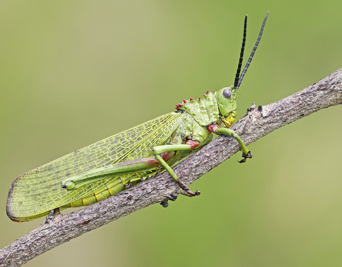
{"label": "veined yellow-green folded forewing of the grasshopper", "polygon": [[51,209],[101,190],[117,178],[96,181],[71,191],[63,189],[61,181],[100,166],[153,157],[153,147],[170,139],[181,123],[181,117],[182,113],[177,112],[159,116],[23,173],[12,183],[8,216],[16,221],[33,220]]}

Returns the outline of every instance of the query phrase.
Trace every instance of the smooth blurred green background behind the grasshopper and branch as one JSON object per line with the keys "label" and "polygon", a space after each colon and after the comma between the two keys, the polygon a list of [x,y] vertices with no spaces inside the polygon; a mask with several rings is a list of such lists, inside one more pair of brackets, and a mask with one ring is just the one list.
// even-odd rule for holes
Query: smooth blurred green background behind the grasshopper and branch
{"label": "smooth blurred green background behind the grasshopper and branch", "polygon": [[[44,221],[5,214],[16,176],[174,104],[231,86],[270,12],[238,114],[342,67],[342,2],[1,1],[1,239]],[[26,266],[341,266],[342,107],[287,125],[192,185]]]}

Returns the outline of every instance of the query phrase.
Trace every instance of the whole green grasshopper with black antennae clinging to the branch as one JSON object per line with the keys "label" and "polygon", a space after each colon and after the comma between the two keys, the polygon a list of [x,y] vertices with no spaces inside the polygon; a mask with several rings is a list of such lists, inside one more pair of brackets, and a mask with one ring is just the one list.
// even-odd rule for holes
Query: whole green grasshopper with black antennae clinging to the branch
{"label": "whole green grasshopper with black antennae clinging to the branch", "polygon": [[207,92],[202,99],[189,99],[176,105],[176,111],[149,120],[88,147],[64,155],[23,173],[8,193],[7,215],[24,222],[49,214],[53,209],[91,205],[117,194],[140,181],[166,170],[188,196],[197,196],[177,177],[171,166],[208,144],[213,133],[231,136],[239,142],[242,160],[251,158],[239,135],[229,129],[237,109],[237,90],[252,61],[263,34],[263,20],[257,42],[242,71],[246,44],[244,38],[234,86]]}

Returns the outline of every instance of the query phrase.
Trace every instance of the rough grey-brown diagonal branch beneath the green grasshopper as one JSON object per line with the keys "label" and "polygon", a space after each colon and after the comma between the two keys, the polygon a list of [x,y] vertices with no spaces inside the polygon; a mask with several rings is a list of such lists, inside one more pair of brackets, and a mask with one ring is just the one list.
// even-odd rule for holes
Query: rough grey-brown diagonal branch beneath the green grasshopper
{"label": "rough grey-brown diagonal branch beneath the green grasshopper", "polygon": [[[239,133],[245,144],[250,144],[299,118],[341,103],[342,68],[276,103],[261,108],[255,107],[254,104],[248,114],[235,123],[232,129]],[[237,151],[239,145],[235,140],[220,136],[173,169],[189,185]],[[164,201],[171,194],[176,196],[180,193],[182,193],[181,189],[170,175],[162,173],[109,199],[68,215],[56,216],[50,223],[40,225],[23,238],[1,249],[0,266],[21,266],[30,259],[83,233],[148,205]]]}

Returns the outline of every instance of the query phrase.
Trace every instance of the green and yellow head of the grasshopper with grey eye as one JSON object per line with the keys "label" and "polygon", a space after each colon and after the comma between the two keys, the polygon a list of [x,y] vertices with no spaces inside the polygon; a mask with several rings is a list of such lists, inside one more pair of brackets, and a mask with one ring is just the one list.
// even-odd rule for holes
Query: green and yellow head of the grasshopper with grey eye
{"label": "green and yellow head of the grasshopper with grey eye", "polygon": [[226,128],[229,128],[231,125],[233,125],[235,116],[237,114],[236,97],[237,88],[234,88],[234,86],[222,88],[216,94],[216,99],[218,101],[218,107],[220,110],[220,119]]}

